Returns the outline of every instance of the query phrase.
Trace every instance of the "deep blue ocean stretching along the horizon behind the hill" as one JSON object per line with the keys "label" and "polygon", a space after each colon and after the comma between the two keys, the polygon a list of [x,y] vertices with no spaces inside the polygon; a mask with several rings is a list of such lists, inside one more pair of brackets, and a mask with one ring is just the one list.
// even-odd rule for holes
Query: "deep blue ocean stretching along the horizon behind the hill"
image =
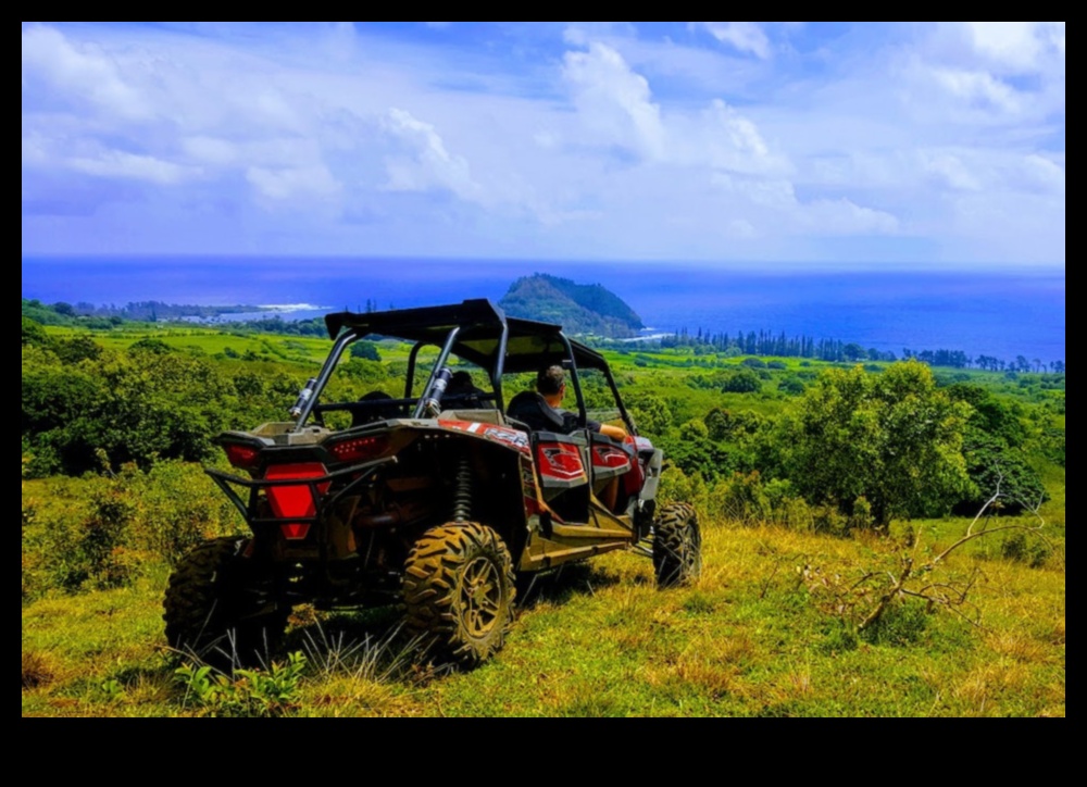
{"label": "deep blue ocean stretching along the horizon behind the hill", "polygon": [[518,276],[549,273],[601,284],[655,332],[769,330],[1044,363],[1064,361],[1064,268],[812,270],[647,263],[273,259],[217,257],[27,258],[23,297],[123,305],[282,307],[287,318],[328,311],[498,301]]}

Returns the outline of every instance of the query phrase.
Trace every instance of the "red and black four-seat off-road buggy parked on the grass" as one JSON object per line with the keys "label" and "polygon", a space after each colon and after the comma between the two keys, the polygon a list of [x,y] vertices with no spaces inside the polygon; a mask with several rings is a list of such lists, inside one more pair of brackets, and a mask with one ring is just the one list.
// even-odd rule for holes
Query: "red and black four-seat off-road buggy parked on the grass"
{"label": "red and black four-seat off-road buggy parked on the grass", "polygon": [[[657,510],[661,451],[638,436],[599,352],[486,300],[325,322],[334,345],[292,420],[217,437],[243,475],[207,472],[251,535],[209,540],[177,565],[171,647],[252,661],[296,604],[396,603],[435,659],[472,666],[502,647],[518,578],[624,548],[652,558],[662,587],[697,576],[694,509]],[[345,351],[367,336],[411,345],[402,396],[329,400]],[[553,364],[576,399],[571,434],[507,411],[503,383],[530,387]],[[482,387],[450,386],[455,371]],[[588,428],[590,399],[626,438]]]}

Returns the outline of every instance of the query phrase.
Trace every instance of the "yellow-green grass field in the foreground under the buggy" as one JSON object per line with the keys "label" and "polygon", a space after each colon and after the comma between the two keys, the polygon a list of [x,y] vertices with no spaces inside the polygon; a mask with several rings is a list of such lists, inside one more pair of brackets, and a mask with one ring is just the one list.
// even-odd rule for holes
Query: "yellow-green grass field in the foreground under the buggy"
{"label": "yellow-green grass field in the foreground under the buggy", "polygon": [[[1050,510],[1055,510],[1050,503]],[[24,716],[1063,716],[1063,516],[1037,567],[980,539],[944,578],[977,571],[967,608],[892,610],[858,635],[826,604],[822,577],[894,565],[895,537],[842,539],[710,524],[704,569],[660,591],[649,561],[610,554],[523,595],[507,647],[470,673],[413,663],[395,610],[299,610],[287,649],[304,664],[282,701],[200,701],[166,651],[164,572],[135,587],[23,609]],[[969,521],[911,523],[921,549]],[[900,523],[901,525],[901,523]],[[805,571],[807,570],[807,571]],[[815,577],[814,579],[812,577]],[[280,657],[283,660],[283,657]],[[272,676],[276,670],[266,672]],[[271,678],[270,678],[271,679]],[[248,694],[247,694],[248,692]]]}

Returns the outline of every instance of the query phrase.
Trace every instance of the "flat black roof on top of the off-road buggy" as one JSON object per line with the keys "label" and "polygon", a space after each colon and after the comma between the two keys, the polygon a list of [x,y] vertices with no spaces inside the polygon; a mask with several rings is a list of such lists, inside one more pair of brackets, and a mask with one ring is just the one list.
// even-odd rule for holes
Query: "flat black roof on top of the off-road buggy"
{"label": "flat black roof on top of the off-road buggy", "polygon": [[570,342],[578,368],[608,366],[603,355],[562,335],[562,326],[534,320],[508,317],[486,299],[465,300],[443,307],[395,309],[385,312],[335,312],[325,316],[328,335],[343,330],[364,337],[373,334],[441,347],[449,332],[459,327],[452,351],[483,368],[495,370],[503,327],[508,328],[504,372],[536,372],[567,358]]}

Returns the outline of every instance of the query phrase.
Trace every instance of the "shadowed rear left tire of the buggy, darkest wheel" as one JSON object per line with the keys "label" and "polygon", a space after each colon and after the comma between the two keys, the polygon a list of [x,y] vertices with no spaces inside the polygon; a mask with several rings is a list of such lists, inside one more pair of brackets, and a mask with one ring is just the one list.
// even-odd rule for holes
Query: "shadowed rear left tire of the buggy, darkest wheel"
{"label": "shadowed rear left tire of the buggy, darkest wheel", "polygon": [[195,547],[170,577],[163,599],[166,641],[175,651],[218,666],[266,661],[287,627],[289,609],[262,599],[247,580],[248,538]]}

